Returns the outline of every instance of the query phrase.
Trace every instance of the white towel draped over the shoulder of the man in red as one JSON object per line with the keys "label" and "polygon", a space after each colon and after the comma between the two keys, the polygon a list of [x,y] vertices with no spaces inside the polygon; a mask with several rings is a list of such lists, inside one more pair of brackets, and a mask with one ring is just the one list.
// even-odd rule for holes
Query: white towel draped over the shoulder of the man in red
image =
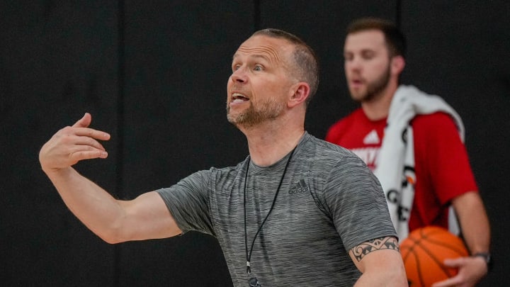
{"label": "white towel draped over the shoulder of the man in red", "polygon": [[[415,86],[401,85],[395,92],[387,117],[385,135],[382,140],[374,174],[385,191],[388,208],[399,240],[409,234],[409,216],[414,200],[414,145],[409,122],[421,114],[438,111],[452,116],[464,141],[464,125],[458,113],[441,97],[425,94]],[[407,145],[407,143],[411,143]],[[449,229],[458,234],[459,227],[453,209],[450,208]]]}

